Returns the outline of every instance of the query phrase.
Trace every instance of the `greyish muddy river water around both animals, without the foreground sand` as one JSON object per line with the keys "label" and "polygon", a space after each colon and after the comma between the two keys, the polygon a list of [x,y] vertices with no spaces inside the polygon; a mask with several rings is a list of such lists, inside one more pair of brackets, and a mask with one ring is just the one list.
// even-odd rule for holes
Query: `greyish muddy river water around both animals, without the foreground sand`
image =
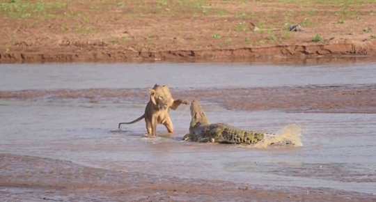
{"label": "greyish muddy river water around both animals, without the foreground sand", "polygon": [[[237,99],[241,98],[237,88],[261,87],[270,91],[283,86],[292,90],[347,86],[347,90],[357,91],[376,85],[375,67],[375,63],[0,65],[0,153],[70,160],[98,169],[157,176],[376,194],[375,114],[346,110],[287,113],[278,107],[267,111],[228,110],[221,102],[211,102],[214,95],[200,93],[208,88],[217,92],[233,89],[233,95],[219,98]],[[143,137],[143,121],[116,131],[118,122],[132,121],[143,113],[147,88],[155,83],[167,84],[189,100],[200,96],[212,123],[279,133],[291,129],[285,135],[303,145],[255,148],[180,141],[190,120],[189,107],[185,105],[170,112],[173,135],[158,125],[160,137]],[[119,88],[129,88],[130,94],[113,100]],[[278,95],[276,102],[299,102],[290,95],[284,98],[279,91],[273,93]],[[363,98],[367,99],[374,98]],[[357,108],[356,103],[346,109]],[[373,106],[371,103],[367,109]]]}

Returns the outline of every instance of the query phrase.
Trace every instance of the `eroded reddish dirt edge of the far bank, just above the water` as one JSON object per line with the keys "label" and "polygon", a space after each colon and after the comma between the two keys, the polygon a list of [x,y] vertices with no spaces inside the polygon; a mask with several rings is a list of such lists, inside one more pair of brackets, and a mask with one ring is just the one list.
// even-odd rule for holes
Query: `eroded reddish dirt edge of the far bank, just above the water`
{"label": "eroded reddish dirt edge of the far bank, just above the water", "polygon": [[[249,59],[267,61],[270,57],[291,56],[304,59],[304,56],[343,56],[376,55],[376,41],[338,41],[326,45],[272,45],[269,47],[243,47],[239,49],[182,49],[169,51],[132,51],[124,47],[90,46],[85,51],[40,47],[13,47],[10,53],[0,54],[3,62],[84,62],[84,61],[176,61],[189,59]],[[75,53],[76,52],[76,53]]]}

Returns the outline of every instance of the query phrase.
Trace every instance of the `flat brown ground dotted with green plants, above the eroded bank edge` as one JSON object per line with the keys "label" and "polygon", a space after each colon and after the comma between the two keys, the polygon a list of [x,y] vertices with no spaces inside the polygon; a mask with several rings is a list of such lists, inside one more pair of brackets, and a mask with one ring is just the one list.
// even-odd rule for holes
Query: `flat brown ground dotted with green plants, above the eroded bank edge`
{"label": "flat brown ground dotted with green plants, above the eroded bank edge", "polygon": [[[148,49],[158,49],[162,45],[164,47],[175,45],[180,48],[180,42],[183,46],[194,47],[206,43],[207,47],[217,45],[229,48],[245,44],[274,45],[292,42],[293,38],[299,38],[299,41],[327,42],[327,38],[323,40],[322,36],[340,38],[340,35],[345,33],[343,30],[332,29],[333,33],[328,34],[321,29],[318,32],[322,36],[320,34],[314,36],[308,31],[315,31],[324,23],[324,25],[334,24],[336,28],[346,29],[346,33],[354,33],[354,36],[361,32],[369,33],[368,37],[373,32],[369,20],[376,15],[375,10],[366,10],[366,3],[374,3],[371,0],[276,0],[262,1],[262,5],[259,3],[261,1],[249,0],[3,0],[0,2],[0,17],[4,22],[3,25],[0,24],[0,29],[12,31],[12,34],[3,34],[5,36],[3,41],[9,42],[10,50],[13,50],[14,44],[12,36],[19,38],[19,42],[25,41],[28,45],[47,44],[48,42],[45,41],[52,40],[54,37],[51,36],[56,35],[58,40],[70,38],[70,41],[95,41],[93,42],[95,44],[106,42],[106,45],[122,43],[134,47],[146,46]],[[290,3],[294,3],[297,8],[283,7]],[[265,9],[256,9],[258,6]],[[280,8],[278,12],[269,12],[276,6]],[[354,25],[354,20],[359,20],[357,22],[360,28],[359,25]],[[253,31],[251,23],[260,30]],[[17,26],[7,29],[12,24]],[[303,29],[307,28],[307,31],[291,32],[285,30],[285,24],[300,24]],[[265,30],[281,28],[284,29]],[[40,29],[42,34],[35,35],[38,36],[38,42],[33,42],[33,38],[29,38],[31,42],[24,40],[22,38],[26,36],[24,29],[28,31]],[[375,38],[375,35],[370,38]],[[0,44],[3,52],[6,51],[6,42]],[[8,52],[10,50],[8,49]]]}

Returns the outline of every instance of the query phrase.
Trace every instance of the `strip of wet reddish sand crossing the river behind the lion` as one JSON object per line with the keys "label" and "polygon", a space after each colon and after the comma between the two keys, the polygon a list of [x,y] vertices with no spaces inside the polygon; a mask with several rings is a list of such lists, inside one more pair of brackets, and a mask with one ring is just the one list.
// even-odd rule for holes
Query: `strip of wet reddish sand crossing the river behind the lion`
{"label": "strip of wet reddish sand crossing the river behind the lion", "polygon": [[[0,91],[0,99],[38,102],[145,102],[148,88],[82,90]],[[194,90],[171,88],[174,98],[219,104],[226,109],[287,112],[376,113],[376,86],[299,86],[272,88],[201,88]],[[224,99],[226,98],[226,99]]]}

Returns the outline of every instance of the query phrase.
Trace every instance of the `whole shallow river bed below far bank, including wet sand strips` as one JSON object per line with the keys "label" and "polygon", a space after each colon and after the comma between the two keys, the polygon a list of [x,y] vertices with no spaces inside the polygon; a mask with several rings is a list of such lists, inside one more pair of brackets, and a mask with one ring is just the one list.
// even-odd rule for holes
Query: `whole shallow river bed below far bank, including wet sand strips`
{"label": "whole shallow river bed below far bank, including wet sand strips", "polygon": [[[170,111],[173,134],[158,125],[159,137],[143,137],[144,121],[116,130],[143,114],[155,83],[200,100],[212,123],[300,145],[181,141],[187,105]],[[233,201],[228,190],[242,186],[260,197],[325,190],[375,199],[375,113],[376,62],[0,64],[0,199]],[[164,181],[171,193],[156,187]],[[224,194],[173,195],[180,185]]]}

